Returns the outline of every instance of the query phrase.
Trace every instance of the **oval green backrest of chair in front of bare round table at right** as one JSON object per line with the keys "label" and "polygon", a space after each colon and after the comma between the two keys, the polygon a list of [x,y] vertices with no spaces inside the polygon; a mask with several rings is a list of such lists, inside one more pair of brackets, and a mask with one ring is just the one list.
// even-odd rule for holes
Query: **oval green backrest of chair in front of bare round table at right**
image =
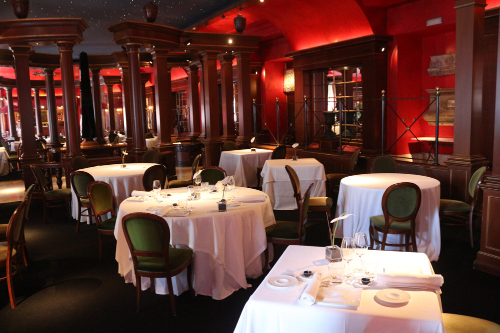
{"label": "oval green backrest of chair in front of bare round table at right", "polygon": [[413,229],[420,202],[421,193],[418,185],[409,182],[390,185],[382,196],[385,227],[388,228],[389,220],[394,222],[407,222],[410,220]]}

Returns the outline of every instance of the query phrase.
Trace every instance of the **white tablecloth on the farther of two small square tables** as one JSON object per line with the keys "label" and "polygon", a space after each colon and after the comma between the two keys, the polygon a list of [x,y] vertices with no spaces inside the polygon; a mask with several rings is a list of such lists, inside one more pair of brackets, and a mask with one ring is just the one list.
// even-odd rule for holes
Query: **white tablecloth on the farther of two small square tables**
{"label": "white tablecloth on the farther of two small square tables", "polygon": [[272,150],[250,149],[228,150],[220,154],[219,167],[228,176],[234,175],[236,186],[256,187],[257,167],[271,158]]}

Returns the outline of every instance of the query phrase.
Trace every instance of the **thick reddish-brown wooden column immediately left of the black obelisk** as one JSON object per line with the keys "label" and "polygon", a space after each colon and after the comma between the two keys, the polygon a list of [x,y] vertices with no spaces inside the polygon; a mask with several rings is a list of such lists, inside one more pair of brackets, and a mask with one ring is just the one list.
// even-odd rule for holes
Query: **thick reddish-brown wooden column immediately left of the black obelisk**
{"label": "thick reddish-brown wooden column immediately left of the black obelisk", "polygon": [[76,101],[73,74],[73,43],[57,42],[61,66],[62,106],[66,131],[66,158],[81,155],[78,140],[79,126],[76,117]]}

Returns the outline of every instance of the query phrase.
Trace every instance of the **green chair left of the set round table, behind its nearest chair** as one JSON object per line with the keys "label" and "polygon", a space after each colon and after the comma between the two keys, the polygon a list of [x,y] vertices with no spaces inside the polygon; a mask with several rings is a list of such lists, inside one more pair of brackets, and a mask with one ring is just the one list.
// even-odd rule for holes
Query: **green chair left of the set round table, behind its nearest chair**
{"label": "green chair left of the set round table, behind its nearest chair", "polygon": [[[114,196],[108,183],[96,180],[87,186],[88,199],[90,207],[95,217],[97,225],[97,236],[99,239],[99,262],[102,259],[102,235],[113,236],[116,216],[114,214]],[[111,217],[106,217],[111,213]]]}

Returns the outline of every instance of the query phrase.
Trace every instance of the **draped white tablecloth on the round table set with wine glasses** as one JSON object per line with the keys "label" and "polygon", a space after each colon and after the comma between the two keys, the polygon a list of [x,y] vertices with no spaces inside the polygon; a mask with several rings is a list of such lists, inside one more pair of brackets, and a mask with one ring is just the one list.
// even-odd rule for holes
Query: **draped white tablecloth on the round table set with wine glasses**
{"label": "draped white tablecloth on the round table set with wine glasses", "polygon": [[[126,244],[121,218],[132,212],[146,212],[157,205],[170,205],[186,197],[186,188],[163,190],[172,196],[154,201],[123,201],[119,207],[114,229],[118,273],[125,282],[135,284],[133,264]],[[226,192],[225,196],[230,192]],[[262,192],[239,188],[239,196],[262,195]],[[221,300],[240,288],[247,288],[245,275],[256,278],[262,274],[261,254],[266,247],[265,227],[275,223],[269,199],[264,202],[241,203],[217,210],[221,192],[201,192],[201,199],[193,201],[194,211],[185,217],[164,217],[170,227],[170,244],[193,250],[193,288],[196,294]],[[188,290],[186,271],[172,278],[175,295]],[[141,279],[141,288],[149,288],[149,279]],[[166,279],[155,280],[155,292],[168,294]]]}

